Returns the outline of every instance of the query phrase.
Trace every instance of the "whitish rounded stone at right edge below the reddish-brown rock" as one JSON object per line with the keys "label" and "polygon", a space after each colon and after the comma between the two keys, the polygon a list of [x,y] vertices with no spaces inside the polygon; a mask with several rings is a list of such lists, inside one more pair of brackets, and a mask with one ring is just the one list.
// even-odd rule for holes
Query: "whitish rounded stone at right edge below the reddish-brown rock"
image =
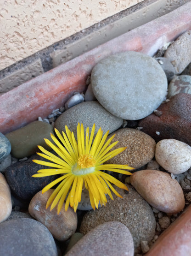
{"label": "whitish rounded stone at right edge below the reddish-brown rock", "polygon": [[191,146],[174,139],[161,140],[157,143],[155,158],[169,173],[184,173],[191,167]]}

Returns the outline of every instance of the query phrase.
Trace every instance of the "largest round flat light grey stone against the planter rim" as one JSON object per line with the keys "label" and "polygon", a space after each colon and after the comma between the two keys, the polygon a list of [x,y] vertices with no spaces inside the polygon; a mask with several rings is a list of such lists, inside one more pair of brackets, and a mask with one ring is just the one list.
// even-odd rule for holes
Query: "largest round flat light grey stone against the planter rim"
{"label": "largest round flat light grey stone against the planter rim", "polygon": [[97,100],[110,113],[137,120],[162,103],[167,77],[152,57],[124,52],[101,60],[91,72],[91,85]]}

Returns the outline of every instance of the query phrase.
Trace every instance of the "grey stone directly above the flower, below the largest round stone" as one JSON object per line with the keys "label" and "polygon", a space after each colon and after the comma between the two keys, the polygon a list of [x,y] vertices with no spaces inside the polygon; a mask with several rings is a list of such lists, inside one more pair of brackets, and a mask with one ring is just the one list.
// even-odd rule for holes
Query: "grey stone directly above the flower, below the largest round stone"
{"label": "grey stone directly above the flower, below the largest round stone", "polygon": [[58,131],[65,131],[65,125],[73,131],[74,136],[77,137],[77,125],[78,123],[83,123],[84,132],[87,126],[89,126],[90,131],[93,124],[96,124],[95,133],[101,129],[103,133],[108,130],[111,132],[116,131],[122,124],[123,120],[115,117],[104,109],[97,101],[85,101],[74,107],[71,107],[65,111],[62,115],[56,119],[55,127]]}

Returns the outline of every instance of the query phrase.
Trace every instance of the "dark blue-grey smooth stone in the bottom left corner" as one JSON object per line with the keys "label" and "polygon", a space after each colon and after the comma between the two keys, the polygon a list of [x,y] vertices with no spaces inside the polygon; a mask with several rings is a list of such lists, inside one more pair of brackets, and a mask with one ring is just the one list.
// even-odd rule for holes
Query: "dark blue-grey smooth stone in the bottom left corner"
{"label": "dark blue-grey smooth stone in the bottom left corner", "polygon": [[0,254],[58,256],[51,232],[40,222],[29,218],[0,224]]}

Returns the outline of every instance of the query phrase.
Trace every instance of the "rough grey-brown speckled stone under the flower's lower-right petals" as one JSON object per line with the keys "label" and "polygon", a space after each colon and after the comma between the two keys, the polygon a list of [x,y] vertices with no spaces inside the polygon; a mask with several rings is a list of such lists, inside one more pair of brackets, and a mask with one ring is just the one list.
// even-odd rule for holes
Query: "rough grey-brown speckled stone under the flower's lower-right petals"
{"label": "rough grey-brown speckled stone under the flower's lower-right petals", "polygon": [[87,212],[82,220],[80,232],[86,234],[107,221],[120,221],[128,227],[135,250],[139,250],[141,240],[150,241],[155,235],[156,221],[152,208],[130,185],[129,194],[116,186],[114,188],[123,199],[113,195],[114,200],[108,198],[105,207]]}

